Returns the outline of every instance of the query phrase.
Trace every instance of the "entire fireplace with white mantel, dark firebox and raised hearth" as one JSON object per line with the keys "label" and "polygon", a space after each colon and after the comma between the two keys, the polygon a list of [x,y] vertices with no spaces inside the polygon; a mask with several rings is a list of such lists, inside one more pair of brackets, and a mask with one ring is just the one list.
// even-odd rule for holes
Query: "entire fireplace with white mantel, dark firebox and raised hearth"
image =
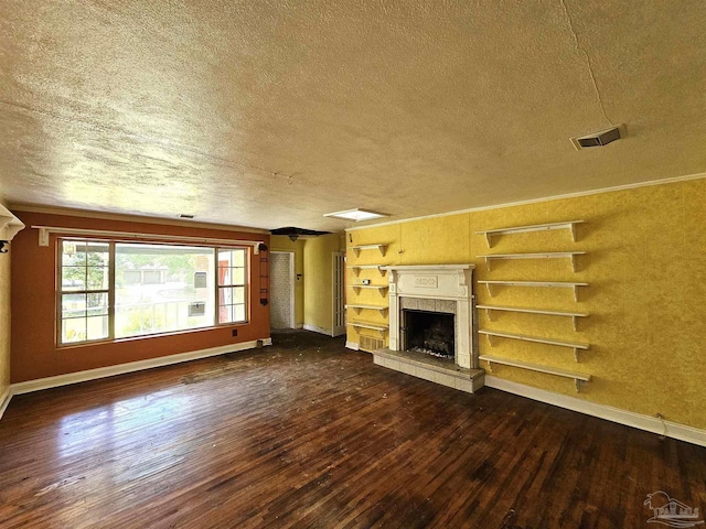
{"label": "entire fireplace with white mantel, dark firebox and raised hearth", "polygon": [[483,387],[473,346],[473,264],[385,267],[389,348],[377,365],[468,392]]}

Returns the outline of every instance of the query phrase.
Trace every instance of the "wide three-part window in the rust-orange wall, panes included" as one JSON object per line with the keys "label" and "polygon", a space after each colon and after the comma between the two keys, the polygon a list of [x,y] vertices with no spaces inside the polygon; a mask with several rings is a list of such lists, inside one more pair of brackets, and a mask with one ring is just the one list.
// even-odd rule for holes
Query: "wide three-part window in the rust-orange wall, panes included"
{"label": "wide three-part window in the rust-orange wall, panes included", "polygon": [[61,345],[247,321],[246,248],[58,244]]}

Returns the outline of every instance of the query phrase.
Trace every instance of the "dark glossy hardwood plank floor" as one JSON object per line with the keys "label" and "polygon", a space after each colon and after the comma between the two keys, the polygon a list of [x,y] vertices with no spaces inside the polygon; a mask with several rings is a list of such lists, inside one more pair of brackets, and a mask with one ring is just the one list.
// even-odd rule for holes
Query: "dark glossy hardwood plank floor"
{"label": "dark glossy hardwood plank floor", "polygon": [[309,332],[12,399],[0,527],[654,527],[706,449],[374,366]]}

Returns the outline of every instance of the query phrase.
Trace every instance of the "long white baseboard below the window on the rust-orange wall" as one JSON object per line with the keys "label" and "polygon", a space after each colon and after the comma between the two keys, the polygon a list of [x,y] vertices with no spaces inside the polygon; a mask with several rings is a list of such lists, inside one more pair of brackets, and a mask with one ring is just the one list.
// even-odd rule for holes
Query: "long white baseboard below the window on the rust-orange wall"
{"label": "long white baseboard below the window on the rust-orange wall", "polygon": [[[98,378],[114,377],[126,373],[141,371],[143,369],[152,369],[154,367],[169,366],[172,364],[181,364],[182,361],[197,360],[200,358],[208,358],[210,356],[224,355],[226,353],[235,353],[237,350],[254,349],[257,347],[257,339],[252,342],[243,342],[240,344],[222,345],[211,347],[208,349],[192,350],[189,353],[180,353],[178,355],[161,356],[159,358],[150,358],[147,360],[130,361],[128,364],[119,364],[117,366],[99,367],[97,369],[87,369],[85,371],[69,373],[66,375],[57,375],[55,377],[38,378],[36,380],[28,380],[26,382],[18,382],[10,386],[12,395],[29,393],[32,391],[41,391],[42,389],[57,388],[69,384],[85,382]],[[271,338],[263,338],[263,345],[270,345]],[[269,342],[269,343],[268,343]]]}

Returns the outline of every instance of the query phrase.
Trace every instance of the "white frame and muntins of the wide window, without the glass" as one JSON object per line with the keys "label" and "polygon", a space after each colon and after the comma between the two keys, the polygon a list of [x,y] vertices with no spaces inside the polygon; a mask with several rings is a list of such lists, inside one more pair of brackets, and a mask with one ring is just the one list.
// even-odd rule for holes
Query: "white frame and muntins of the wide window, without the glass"
{"label": "white frame and muntins of the wide window, without the glass", "polygon": [[[76,244],[107,244],[108,245],[108,288],[107,290],[92,290],[87,289],[88,284],[84,284],[84,290],[64,290],[63,284],[63,270],[64,270],[64,242],[76,242]],[[213,303],[214,303],[214,314],[213,321],[202,327],[193,327],[193,328],[182,328],[175,331],[163,331],[156,332],[151,334],[138,334],[135,336],[125,336],[120,338],[115,337],[115,314],[116,314],[116,245],[118,244],[130,244],[130,245],[163,245],[170,247],[192,247],[192,248],[204,248],[213,251],[213,270],[214,273],[214,285],[212,290]],[[218,274],[218,252],[221,250],[240,250],[244,252],[244,274],[243,274],[243,284],[221,284],[221,278]],[[99,343],[116,343],[131,339],[142,339],[142,338],[151,338],[157,336],[165,336],[171,334],[182,334],[182,333],[193,333],[220,327],[227,326],[236,326],[236,325],[245,325],[250,322],[250,310],[252,310],[252,300],[249,299],[249,293],[252,291],[252,253],[253,249],[250,246],[240,246],[240,245],[207,245],[207,244],[182,244],[182,242],[171,242],[169,240],[126,240],[122,238],[105,238],[105,237],[82,237],[82,236],[57,236],[56,237],[56,259],[54,263],[55,268],[55,343],[57,348],[67,348],[67,347],[77,347],[84,345],[94,345]],[[88,268],[88,264],[85,264]],[[238,267],[239,268],[239,267]],[[232,280],[233,281],[233,280]],[[245,305],[245,317],[243,321],[231,321],[231,322],[221,322],[220,311],[218,311],[218,293],[222,288],[233,288],[233,287],[243,287],[244,289],[244,305]],[[68,319],[64,319],[63,312],[63,298],[66,294],[85,294],[88,295],[90,293],[107,293],[108,299],[108,336],[101,338],[94,339],[82,339],[75,342],[64,342],[63,341],[63,324],[64,321]],[[87,316],[84,316],[87,317]]]}

